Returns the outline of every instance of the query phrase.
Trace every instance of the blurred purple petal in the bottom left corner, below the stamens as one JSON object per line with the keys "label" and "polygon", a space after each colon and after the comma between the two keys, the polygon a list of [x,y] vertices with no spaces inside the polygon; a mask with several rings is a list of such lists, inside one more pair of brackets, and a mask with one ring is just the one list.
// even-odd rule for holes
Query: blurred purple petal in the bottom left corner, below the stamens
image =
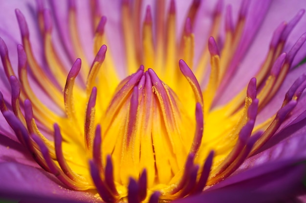
{"label": "blurred purple petal in the bottom left corner, below the stamens", "polygon": [[29,202],[102,202],[93,192],[66,189],[58,179],[42,169],[18,163],[0,164],[0,196]]}

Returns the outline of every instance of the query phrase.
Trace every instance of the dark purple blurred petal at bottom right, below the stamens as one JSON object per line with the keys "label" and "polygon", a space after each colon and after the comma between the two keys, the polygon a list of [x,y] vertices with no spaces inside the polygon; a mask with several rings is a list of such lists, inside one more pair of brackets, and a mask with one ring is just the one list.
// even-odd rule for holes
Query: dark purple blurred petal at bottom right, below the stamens
{"label": "dark purple blurred petal at bottom right, below the stamens", "polygon": [[[301,187],[305,166],[298,165],[283,170],[262,173],[263,167],[232,177],[197,196],[173,203],[269,203],[294,197]],[[266,172],[266,171],[265,171]],[[224,187],[220,187],[224,186]]]}

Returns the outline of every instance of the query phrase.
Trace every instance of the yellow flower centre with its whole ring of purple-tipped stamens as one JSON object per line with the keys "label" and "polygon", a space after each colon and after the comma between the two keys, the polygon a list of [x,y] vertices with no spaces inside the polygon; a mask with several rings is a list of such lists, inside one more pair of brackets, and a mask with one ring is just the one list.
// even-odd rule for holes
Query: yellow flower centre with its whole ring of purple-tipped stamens
{"label": "yellow flower centre with its whole ring of purple-tipped stamens", "polygon": [[[279,111],[255,123],[306,40],[304,34],[283,53],[286,38],[304,10],[276,28],[255,77],[227,103],[219,104],[239,66],[235,57],[243,43],[248,0],[242,2],[236,23],[231,6],[226,7],[222,48],[216,39],[222,29],[223,4],[217,3],[209,28],[212,37],[199,60],[194,59],[193,32],[199,0],[193,0],[181,36],[176,32],[175,0],[169,8],[163,0],[156,1],[155,15],[148,5],[144,18],[141,0],[123,0],[124,59],[108,50],[107,18],[97,9],[99,2],[90,1],[92,61],[78,34],[75,2],[68,3],[73,49],[63,43],[65,56],[52,38],[52,9],[37,2],[46,67],[37,60],[31,30],[16,9],[22,45],[17,47],[16,72],[0,38],[1,60],[11,86],[9,102],[0,94],[0,110],[44,170],[68,189],[97,193],[107,203],[168,202],[221,182],[273,136],[305,89],[306,75],[302,75],[284,95]],[[50,4],[52,8],[53,1]],[[69,70],[63,57],[71,63]],[[124,79],[117,60],[125,61],[129,76]]]}

